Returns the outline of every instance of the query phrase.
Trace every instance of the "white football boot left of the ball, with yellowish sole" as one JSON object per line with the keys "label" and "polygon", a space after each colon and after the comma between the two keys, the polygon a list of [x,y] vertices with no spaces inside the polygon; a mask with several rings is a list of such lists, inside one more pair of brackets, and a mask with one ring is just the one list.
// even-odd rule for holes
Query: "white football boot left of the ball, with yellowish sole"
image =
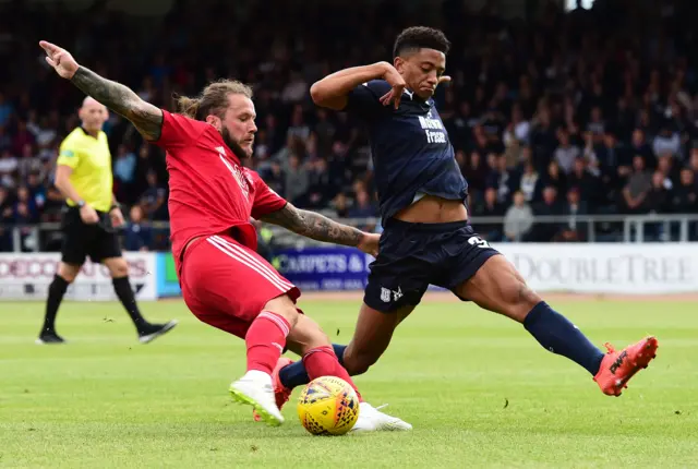
{"label": "white football boot left of the ball, with yellowish sole", "polygon": [[276,407],[272,376],[268,374],[250,370],[230,385],[230,395],[236,402],[252,406],[268,425],[278,426],[284,423],[284,417]]}

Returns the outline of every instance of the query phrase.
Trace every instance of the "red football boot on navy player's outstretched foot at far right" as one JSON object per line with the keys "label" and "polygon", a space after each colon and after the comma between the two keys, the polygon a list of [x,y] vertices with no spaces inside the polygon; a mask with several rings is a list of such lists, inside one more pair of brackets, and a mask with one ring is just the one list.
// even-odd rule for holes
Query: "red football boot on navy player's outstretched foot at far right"
{"label": "red football boot on navy player's outstretched foot at far right", "polygon": [[609,352],[601,360],[601,368],[593,377],[601,392],[609,396],[619,396],[627,382],[638,371],[646,369],[657,357],[659,341],[654,337],[646,337],[639,342],[616,351],[611,344],[605,345]]}

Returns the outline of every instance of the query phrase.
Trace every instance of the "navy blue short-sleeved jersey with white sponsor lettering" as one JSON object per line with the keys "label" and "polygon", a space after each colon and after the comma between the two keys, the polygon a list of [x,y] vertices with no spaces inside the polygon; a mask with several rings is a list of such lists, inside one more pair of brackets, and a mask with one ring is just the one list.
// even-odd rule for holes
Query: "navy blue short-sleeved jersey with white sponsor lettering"
{"label": "navy blue short-sleeved jersey with white sponsor lettering", "polygon": [[406,91],[395,109],[380,101],[389,91],[384,80],[364,83],[349,93],[346,107],[368,124],[383,221],[419,194],[465,203],[468,184],[434,100]]}

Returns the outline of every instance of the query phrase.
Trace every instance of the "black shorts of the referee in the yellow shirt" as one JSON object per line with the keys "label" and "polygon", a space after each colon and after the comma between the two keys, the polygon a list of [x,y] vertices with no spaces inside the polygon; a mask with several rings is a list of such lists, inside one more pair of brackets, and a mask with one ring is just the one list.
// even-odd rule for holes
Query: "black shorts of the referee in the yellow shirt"
{"label": "black shorts of the referee in the yellow shirt", "polygon": [[80,208],[63,208],[62,261],[65,264],[83,265],[89,256],[95,264],[105,258],[121,257],[121,245],[116,230],[111,227],[109,214],[97,212],[99,223],[87,225],[80,217]]}

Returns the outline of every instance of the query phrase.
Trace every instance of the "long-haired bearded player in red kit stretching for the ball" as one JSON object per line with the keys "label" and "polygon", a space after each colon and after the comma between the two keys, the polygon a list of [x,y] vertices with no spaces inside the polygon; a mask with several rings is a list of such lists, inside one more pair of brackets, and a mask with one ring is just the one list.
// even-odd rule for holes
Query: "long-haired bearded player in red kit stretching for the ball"
{"label": "long-haired bearded player in red kit stretching for the ball", "polygon": [[[356,389],[327,336],[296,308],[298,288],[255,252],[250,217],[369,253],[377,251],[378,238],[293,207],[241,165],[252,156],[257,130],[252,91],[220,81],[197,98],[180,98],[180,113],[170,113],[79,65],[64,49],[46,41],[40,46],[61,77],[166,149],[172,254],[184,301],[204,323],[245,340],[248,371],[230,385],[233,398],[272,425],[284,422],[272,375],[284,363],[286,347],[302,357],[311,378],[337,376]],[[353,430],[410,429],[362,401]]]}

